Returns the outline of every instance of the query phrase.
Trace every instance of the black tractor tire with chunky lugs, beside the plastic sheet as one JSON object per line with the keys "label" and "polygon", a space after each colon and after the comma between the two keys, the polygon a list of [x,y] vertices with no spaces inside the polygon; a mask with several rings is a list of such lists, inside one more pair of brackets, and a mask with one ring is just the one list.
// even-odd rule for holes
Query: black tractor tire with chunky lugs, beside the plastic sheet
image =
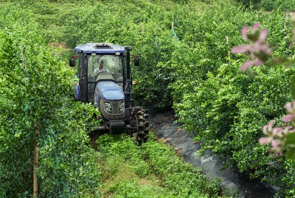
{"label": "black tractor tire with chunky lugs, beside the plastic sheet", "polygon": [[136,129],[132,131],[132,137],[137,140],[137,142],[142,143],[148,140],[149,133],[149,115],[146,114],[148,110],[142,109],[142,107],[134,107],[132,121],[135,121]]}

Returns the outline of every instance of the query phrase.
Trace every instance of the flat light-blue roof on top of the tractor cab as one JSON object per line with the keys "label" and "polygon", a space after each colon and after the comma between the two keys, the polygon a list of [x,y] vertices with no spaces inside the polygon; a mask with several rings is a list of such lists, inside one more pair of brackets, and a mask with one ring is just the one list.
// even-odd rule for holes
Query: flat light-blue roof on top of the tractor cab
{"label": "flat light-blue roof on top of the tractor cab", "polygon": [[112,43],[86,43],[75,47],[75,51],[83,51],[84,53],[96,52],[97,54],[107,53],[125,53],[124,47],[121,45],[114,45]]}

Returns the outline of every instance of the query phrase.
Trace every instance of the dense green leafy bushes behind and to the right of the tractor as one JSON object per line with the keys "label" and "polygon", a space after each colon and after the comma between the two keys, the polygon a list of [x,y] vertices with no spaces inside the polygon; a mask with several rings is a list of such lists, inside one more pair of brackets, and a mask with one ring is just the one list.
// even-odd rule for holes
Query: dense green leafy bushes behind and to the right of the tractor
{"label": "dense green leafy bushes behind and to the right of the tractor", "polygon": [[[69,44],[105,40],[134,46],[133,53],[141,56],[141,66],[134,68],[133,73],[139,82],[134,91],[137,99],[158,106],[169,106],[173,101],[179,122],[195,132],[196,140],[204,142],[201,152],[212,149],[226,157],[225,167],[237,163],[240,171],[255,169],[253,177],[280,186],[294,183],[294,163],[284,157],[273,161],[268,155],[269,147],[258,143],[263,125],[286,113],[284,104],[292,99],[289,83],[293,69],[266,65],[251,70],[255,75],[249,78],[239,71],[248,56],[227,53],[232,46],[244,43],[240,29],[259,21],[270,31],[268,42],[275,49],[273,55],[292,54],[291,31],[283,28],[290,21],[285,19],[284,12],[263,14],[248,9],[245,13],[243,7],[219,5],[206,14],[197,14],[194,6],[176,6],[177,11],[140,9],[139,15],[118,20],[116,13],[101,12],[103,7],[92,8],[91,13],[97,16],[89,14],[78,21],[77,18],[69,21],[69,26],[78,32],[74,39],[70,38],[72,33],[67,33]],[[128,11],[137,9],[129,6]],[[123,14],[125,11],[124,8]],[[141,19],[148,14],[150,17]],[[176,34],[170,30],[171,21]],[[122,29],[115,34],[110,27],[118,23]],[[144,34],[135,23],[145,25]],[[156,26],[156,44],[153,26]],[[84,27],[90,28],[81,31]]]}

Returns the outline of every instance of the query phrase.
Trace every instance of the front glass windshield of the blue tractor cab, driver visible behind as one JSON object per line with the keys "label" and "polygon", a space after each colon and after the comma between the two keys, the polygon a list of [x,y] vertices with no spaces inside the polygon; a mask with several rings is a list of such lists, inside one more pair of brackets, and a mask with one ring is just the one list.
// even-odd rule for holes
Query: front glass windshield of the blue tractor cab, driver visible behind
{"label": "front glass windshield of the blue tractor cab, driver visible behind", "polygon": [[[115,54],[97,54],[91,56],[89,54],[87,62],[88,99],[90,101],[93,98],[95,82],[99,79],[113,79],[123,89],[124,70],[121,56]],[[106,73],[109,74],[107,75]]]}

